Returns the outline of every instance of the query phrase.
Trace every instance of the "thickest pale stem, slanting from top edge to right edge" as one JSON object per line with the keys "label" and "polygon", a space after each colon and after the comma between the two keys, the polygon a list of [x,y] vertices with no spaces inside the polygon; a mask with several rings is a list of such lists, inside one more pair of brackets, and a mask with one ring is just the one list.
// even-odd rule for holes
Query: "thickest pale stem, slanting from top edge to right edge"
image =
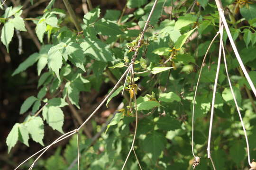
{"label": "thickest pale stem, slanting from top edge to right edge", "polygon": [[222,23],[223,23],[223,25],[225,27],[225,30],[226,30],[226,32],[228,34],[230,44],[231,44],[231,46],[233,48],[233,51],[234,51],[234,53],[235,53],[235,55],[237,57],[238,63],[240,65],[240,67],[242,68],[243,73],[244,73],[244,75],[245,75],[245,77],[246,77],[246,79],[247,79],[247,81],[248,81],[248,83],[249,83],[249,85],[250,85],[250,87],[251,87],[255,97],[256,97],[256,88],[255,88],[255,86],[254,86],[250,76],[248,75],[247,70],[246,70],[246,68],[245,68],[245,66],[243,64],[243,61],[242,61],[242,59],[241,59],[241,57],[240,57],[240,55],[238,53],[238,49],[237,49],[237,47],[235,45],[235,42],[234,42],[234,40],[232,38],[232,35],[230,33],[230,30],[229,30],[228,23],[227,23],[226,18],[224,16],[224,10],[222,9],[221,2],[220,2],[220,0],[215,0],[215,2],[216,2],[216,5],[217,5],[217,8],[219,10],[219,17],[221,18]]}

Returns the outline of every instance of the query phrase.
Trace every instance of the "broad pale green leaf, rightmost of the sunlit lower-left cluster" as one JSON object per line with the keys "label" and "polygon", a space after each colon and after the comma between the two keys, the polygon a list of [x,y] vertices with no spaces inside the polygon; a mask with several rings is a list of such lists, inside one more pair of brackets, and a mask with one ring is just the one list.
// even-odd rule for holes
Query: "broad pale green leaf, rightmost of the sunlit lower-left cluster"
{"label": "broad pale green leaf, rightmost of the sunlit lower-left cluster", "polygon": [[54,130],[64,133],[62,130],[64,124],[63,111],[56,106],[47,106],[43,109],[43,118]]}

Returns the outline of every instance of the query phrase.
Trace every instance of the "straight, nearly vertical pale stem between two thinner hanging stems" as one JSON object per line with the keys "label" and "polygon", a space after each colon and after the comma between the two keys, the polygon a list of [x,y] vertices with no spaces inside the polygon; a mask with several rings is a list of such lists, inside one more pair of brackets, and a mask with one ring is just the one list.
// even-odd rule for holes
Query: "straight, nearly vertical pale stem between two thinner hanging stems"
{"label": "straight, nearly vertical pale stem between two thinner hanging stems", "polygon": [[221,19],[219,20],[219,23],[220,23],[220,27],[219,27],[219,34],[220,34],[219,58],[218,58],[218,65],[217,65],[215,82],[214,82],[214,87],[213,87],[211,110],[210,110],[210,127],[209,127],[209,136],[208,136],[208,145],[207,145],[207,155],[208,155],[208,158],[210,158],[210,138],[211,138],[212,121],[213,121],[213,114],[214,114],[215,95],[216,95],[217,84],[218,84],[218,77],[219,77],[219,67],[220,67],[221,49],[222,49],[221,41],[222,41],[222,37],[223,37],[223,24],[221,24]]}

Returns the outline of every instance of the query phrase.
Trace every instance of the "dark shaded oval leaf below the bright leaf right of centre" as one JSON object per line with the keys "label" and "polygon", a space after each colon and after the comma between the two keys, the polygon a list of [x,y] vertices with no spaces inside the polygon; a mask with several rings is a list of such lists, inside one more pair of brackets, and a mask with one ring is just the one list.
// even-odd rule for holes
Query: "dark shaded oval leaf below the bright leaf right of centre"
{"label": "dark shaded oval leaf below the bright leaf right of centre", "polygon": [[181,128],[181,124],[177,119],[173,119],[169,116],[160,117],[156,122],[157,127],[162,130],[175,130]]}

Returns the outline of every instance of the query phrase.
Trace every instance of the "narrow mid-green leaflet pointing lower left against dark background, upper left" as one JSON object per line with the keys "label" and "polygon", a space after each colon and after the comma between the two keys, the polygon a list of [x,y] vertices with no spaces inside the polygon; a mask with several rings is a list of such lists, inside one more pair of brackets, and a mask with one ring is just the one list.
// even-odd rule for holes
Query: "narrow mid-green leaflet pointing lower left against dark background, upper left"
{"label": "narrow mid-green leaflet pointing lower left against dark background, upper left", "polygon": [[40,55],[36,52],[30,55],[25,61],[19,64],[18,68],[15,69],[15,71],[12,73],[11,76],[14,76],[24,70],[26,70],[28,67],[32,66],[37,62],[37,60],[40,58]]}

